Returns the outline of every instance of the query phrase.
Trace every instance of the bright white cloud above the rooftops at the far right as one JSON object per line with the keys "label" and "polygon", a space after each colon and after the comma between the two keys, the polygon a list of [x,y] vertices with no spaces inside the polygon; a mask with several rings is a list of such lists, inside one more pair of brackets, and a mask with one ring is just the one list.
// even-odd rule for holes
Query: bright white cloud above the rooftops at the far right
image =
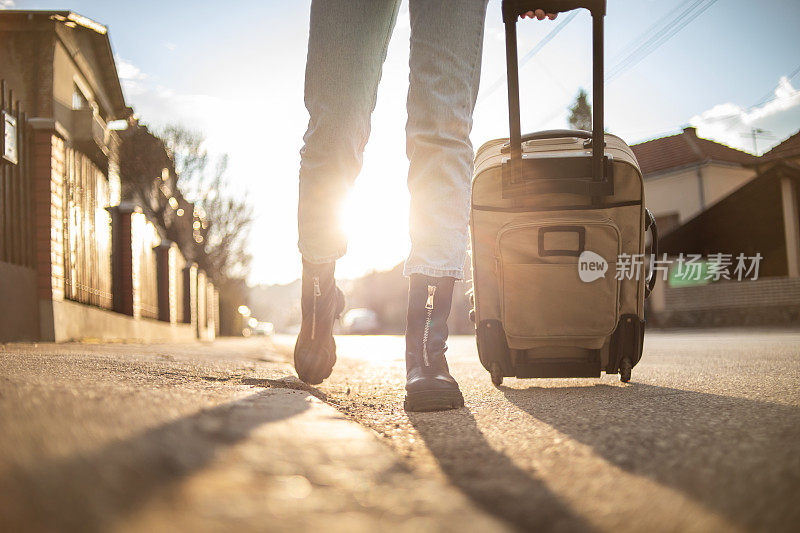
{"label": "bright white cloud above the rooftops at the far right", "polygon": [[697,127],[699,136],[749,152],[754,151],[752,129],[765,130],[770,138],[758,139],[760,154],[800,129],[800,90],[784,76],[773,97],[764,103],[750,108],[730,102],[718,104],[689,122]]}

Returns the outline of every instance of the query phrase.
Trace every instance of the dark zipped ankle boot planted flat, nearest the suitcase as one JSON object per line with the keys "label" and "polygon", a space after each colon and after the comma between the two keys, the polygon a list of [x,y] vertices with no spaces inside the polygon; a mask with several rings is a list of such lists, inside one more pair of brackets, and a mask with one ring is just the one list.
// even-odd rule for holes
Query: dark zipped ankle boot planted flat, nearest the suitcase
{"label": "dark zipped ankle boot planted flat, nearest the suitcase", "polygon": [[464,406],[464,397],[444,358],[453,283],[455,279],[450,277],[411,276],[406,322],[407,411]]}

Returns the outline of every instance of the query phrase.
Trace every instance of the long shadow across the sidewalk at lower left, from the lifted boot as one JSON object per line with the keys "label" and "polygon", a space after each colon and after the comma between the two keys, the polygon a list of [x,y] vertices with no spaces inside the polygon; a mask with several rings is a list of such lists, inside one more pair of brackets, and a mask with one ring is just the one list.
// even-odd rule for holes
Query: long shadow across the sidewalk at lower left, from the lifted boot
{"label": "long shadow across the sidewalk at lower left, from the lifted boot", "polygon": [[308,408],[305,401],[275,408],[273,394],[260,391],[88,455],[0,471],[0,530],[108,531],[256,427]]}

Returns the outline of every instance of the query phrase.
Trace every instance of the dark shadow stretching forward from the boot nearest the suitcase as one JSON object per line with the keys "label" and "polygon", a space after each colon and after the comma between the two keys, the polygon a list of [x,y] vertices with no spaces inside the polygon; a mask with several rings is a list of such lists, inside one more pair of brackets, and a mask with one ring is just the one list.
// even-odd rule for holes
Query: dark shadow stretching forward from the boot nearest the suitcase
{"label": "dark shadow stretching forward from the boot nearest the suitcase", "polygon": [[543,482],[492,448],[467,409],[408,418],[453,484],[485,511],[526,531],[592,529]]}

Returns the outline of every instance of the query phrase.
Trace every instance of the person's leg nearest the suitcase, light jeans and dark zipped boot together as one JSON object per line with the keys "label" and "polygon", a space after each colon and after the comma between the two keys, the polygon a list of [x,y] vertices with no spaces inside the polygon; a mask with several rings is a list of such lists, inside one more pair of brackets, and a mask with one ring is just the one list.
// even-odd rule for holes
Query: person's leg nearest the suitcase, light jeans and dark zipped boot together
{"label": "person's leg nearest the suitcase, light jeans and dark zipped boot together", "polygon": [[464,276],[473,160],[469,134],[486,3],[410,0],[405,407],[412,411],[464,405],[444,353],[453,285]]}

